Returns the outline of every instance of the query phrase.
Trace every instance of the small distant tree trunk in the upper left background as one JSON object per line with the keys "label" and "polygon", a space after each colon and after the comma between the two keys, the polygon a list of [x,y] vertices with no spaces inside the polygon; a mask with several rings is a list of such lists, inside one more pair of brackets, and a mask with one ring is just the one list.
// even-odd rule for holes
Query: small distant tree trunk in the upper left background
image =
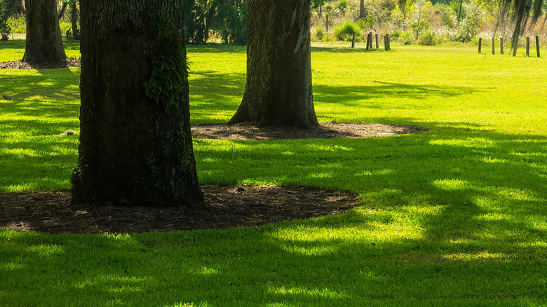
{"label": "small distant tree trunk in the upper left background", "polygon": [[25,0],[27,39],[22,62],[46,63],[67,59],[57,20],[57,0]]}

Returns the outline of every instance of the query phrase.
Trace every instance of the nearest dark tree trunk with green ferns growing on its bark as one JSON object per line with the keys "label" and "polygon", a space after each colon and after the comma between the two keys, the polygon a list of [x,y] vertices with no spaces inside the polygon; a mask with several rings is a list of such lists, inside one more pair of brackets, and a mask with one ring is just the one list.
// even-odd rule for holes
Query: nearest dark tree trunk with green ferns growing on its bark
{"label": "nearest dark tree trunk with green ferns growing on its bark", "polygon": [[81,0],[72,203],[191,205],[198,186],[178,0]]}

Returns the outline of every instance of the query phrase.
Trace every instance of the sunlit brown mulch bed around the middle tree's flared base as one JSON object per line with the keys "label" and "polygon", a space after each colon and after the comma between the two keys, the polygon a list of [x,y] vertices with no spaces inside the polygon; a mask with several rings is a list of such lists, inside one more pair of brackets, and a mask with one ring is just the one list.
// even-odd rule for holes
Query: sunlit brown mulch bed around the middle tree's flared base
{"label": "sunlit brown mulch bed around the middle tree's flared base", "polygon": [[293,127],[257,127],[252,123],[192,125],[192,137],[199,139],[332,139],[385,137],[429,131],[419,125],[387,125],[381,123],[320,123],[310,129]]}

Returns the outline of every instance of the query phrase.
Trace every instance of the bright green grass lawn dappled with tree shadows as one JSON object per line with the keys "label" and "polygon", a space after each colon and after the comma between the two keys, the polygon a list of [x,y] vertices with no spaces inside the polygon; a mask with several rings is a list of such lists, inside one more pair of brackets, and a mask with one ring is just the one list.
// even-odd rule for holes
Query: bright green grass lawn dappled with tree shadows
{"label": "bright green grass lawn dappled with tree shadows", "polygon": [[[358,208],[224,231],[0,231],[0,306],[547,306],[546,60],[346,46],[312,48],[320,121],[431,131],[194,146],[203,183],[353,191]],[[0,61],[23,49],[0,43]],[[188,51],[191,121],[227,121],[245,48]],[[78,140],[58,134],[79,130],[78,85],[79,69],[0,69],[1,192],[69,188]]]}

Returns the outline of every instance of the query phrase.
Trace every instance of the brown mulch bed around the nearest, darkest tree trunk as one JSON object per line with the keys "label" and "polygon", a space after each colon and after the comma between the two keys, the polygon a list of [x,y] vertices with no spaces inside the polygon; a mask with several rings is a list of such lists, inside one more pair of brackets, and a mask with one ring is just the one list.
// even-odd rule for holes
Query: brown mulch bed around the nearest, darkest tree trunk
{"label": "brown mulch bed around the nearest, darkest tree trunk", "polygon": [[259,226],[292,219],[339,214],[358,195],[306,186],[201,186],[205,201],[194,207],[112,207],[76,209],[71,192],[0,194],[0,230],[43,233],[143,233]]}

